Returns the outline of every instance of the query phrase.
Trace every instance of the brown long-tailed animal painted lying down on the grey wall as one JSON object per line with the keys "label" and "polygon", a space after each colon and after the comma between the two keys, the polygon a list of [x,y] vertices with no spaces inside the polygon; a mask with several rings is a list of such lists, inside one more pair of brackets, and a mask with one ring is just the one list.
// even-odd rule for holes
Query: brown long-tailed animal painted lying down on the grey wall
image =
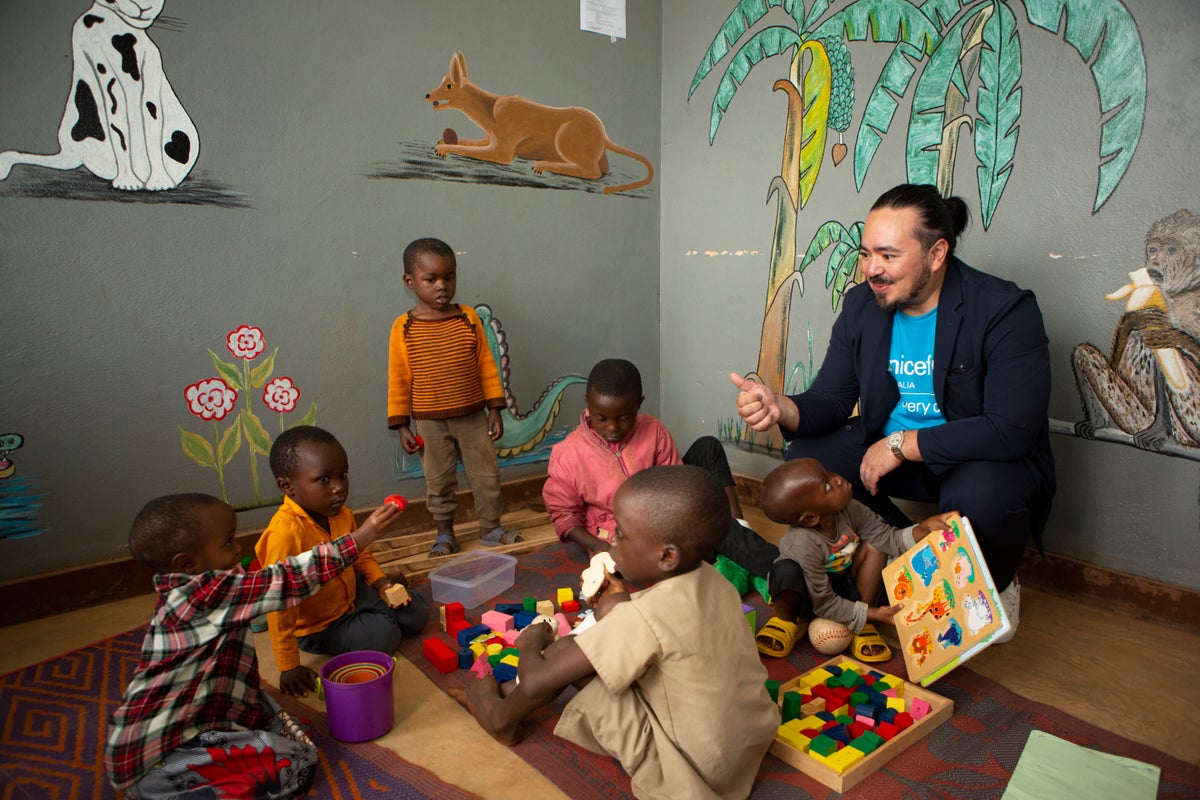
{"label": "brown long-tailed animal painted lying down on the grey wall", "polygon": [[[605,187],[605,194],[625,192],[654,180],[654,167],[643,156],[614,144],[600,118],[586,108],[542,106],[517,95],[497,95],[470,82],[462,52],[450,58],[450,72],[425,95],[434,110],[458,109],[478,125],[482,139],[457,139],[448,131],[437,154],[454,154],[498,164],[516,157],[534,162],[533,172],[595,179],[608,173],[606,150],[629,156],[646,166],[641,181]],[[449,140],[455,139],[455,140]]]}

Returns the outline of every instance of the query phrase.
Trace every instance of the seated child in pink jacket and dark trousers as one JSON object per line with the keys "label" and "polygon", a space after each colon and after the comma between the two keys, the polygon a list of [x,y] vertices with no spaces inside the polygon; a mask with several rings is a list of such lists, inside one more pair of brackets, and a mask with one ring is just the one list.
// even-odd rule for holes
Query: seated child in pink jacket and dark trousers
{"label": "seated child in pink jacket and dark trousers", "polygon": [[[542,498],[554,533],[576,561],[607,551],[616,530],[612,501],[630,475],[649,467],[692,464],[712,473],[730,503],[728,534],[715,554],[766,577],[779,548],[745,524],[725,449],[714,437],[697,439],[683,458],[671,432],[641,414],[642,375],[624,359],[605,359],[588,374],[578,427],[550,453]],[[714,558],[715,558],[714,554]]]}

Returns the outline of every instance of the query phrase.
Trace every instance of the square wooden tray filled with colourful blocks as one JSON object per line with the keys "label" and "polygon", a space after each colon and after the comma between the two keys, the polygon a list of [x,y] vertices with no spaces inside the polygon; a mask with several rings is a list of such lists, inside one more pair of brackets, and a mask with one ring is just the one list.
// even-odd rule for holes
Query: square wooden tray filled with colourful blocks
{"label": "square wooden tray filled with colourful blocks", "polygon": [[[881,699],[884,708],[876,705]],[[784,723],[772,754],[839,793],[870,777],[954,714],[954,700],[846,656],[781,684],[779,702]]]}

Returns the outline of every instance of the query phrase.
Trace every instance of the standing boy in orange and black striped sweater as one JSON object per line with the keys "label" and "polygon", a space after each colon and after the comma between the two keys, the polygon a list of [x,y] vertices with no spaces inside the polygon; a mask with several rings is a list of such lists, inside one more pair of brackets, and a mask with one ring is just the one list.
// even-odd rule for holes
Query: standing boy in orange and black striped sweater
{"label": "standing boy in orange and black striped sweater", "polygon": [[454,302],[457,260],[450,246],[418,239],[406,247],[404,285],[416,295],[416,305],[391,326],[388,427],[400,433],[406,452],[421,453],[438,529],[430,555],[460,549],[454,535],[460,456],[475,495],[480,543],[518,542],[517,531],[500,524],[494,441],[504,434],[504,390],[479,315]]}

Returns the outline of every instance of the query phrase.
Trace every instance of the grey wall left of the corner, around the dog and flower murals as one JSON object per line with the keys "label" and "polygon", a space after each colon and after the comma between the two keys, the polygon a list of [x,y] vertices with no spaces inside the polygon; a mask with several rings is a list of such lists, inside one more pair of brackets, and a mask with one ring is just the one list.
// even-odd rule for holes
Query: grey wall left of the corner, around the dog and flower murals
{"label": "grey wall left of the corner, around the dog and flower murals", "polygon": [[[0,149],[55,150],[71,26],[86,7],[0,6]],[[385,422],[388,331],[412,306],[400,255],[416,236],[450,242],[457,300],[487,302],[503,321],[522,410],[556,377],[586,374],[606,355],[655,374],[658,184],[605,197],[366,175],[394,164],[401,143],[432,151],[445,127],[478,134],[424,100],[456,49],[476,83],[590,108],[610,138],[658,166],[660,26],[654,2],[632,4],[629,37],[612,43],[578,30],[577,5],[539,0],[355,0],[336,11],[168,0],[150,35],[199,130],[192,178],[250,207],[22,197],[47,178],[32,167],[0,182],[0,428],[25,439],[11,457],[43,495],[47,529],[0,541],[0,579],[120,557],[145,500],[217,493],[212,470],[180,449],[180,427],[212,439],[184,389],[215,374],[209,349],[234,361],[224,336],[241,324],[263,329],[268,353],[278,347],[274,374],[295,381],[305,409],[316,399],[318,425],[346,445],[352,504],[419,497],[419,482],[392,479]],[[642,175],[631,160],[612,161]],[[582,391],[565,397],[559,423],[574,426]],[[277,432],[277,415],[264,425]],[[248,499],[245,446],[226,471],[230,500]],[[258,471],[266,495],[262,456]]]}

